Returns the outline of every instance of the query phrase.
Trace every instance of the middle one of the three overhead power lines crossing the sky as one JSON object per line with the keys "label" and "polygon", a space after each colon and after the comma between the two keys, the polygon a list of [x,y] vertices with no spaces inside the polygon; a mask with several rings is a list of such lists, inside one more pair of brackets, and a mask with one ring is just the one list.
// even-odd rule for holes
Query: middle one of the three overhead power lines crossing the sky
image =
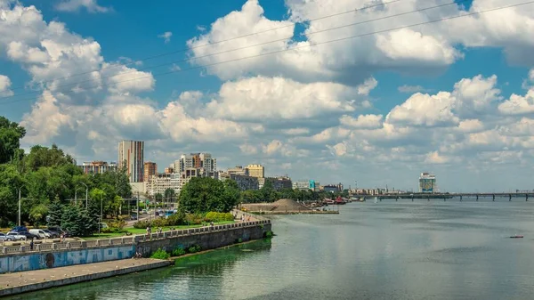
{"label": "middle one of the three overhead power lines crossing the sky", "polygon": [[[411,13],[425,12],[425,11],[433,10],[433,9],[436,9],[436,8],[441,8],[441,7],[444,7],[444,6],[457,5],[459,3],[466,2],[466,1],[469,1],[469,0],[457,0],[457,1],[452,1],[452,2],[446,3],[446,4],[439,4],[439,5],[434,5],[434,6],[431,6],[431,7],[417,9],[417,10],[414,10],[414,11],[395,13],[395,14],[384,16],[384,17],[380,17],[380,18],[375,18],[375,19],[370,19],[370,20],[363,20],[363,21],[354,22],[354,23],[351,23],[351,24],[346,24],[346,25],[342,25],[342,26],[336,26],[334,28],[326,28],[326,29],[322,29],[322,30],[317,30],[317,31],[306,33],[306,36],[313,36],[313,35],[316,35],[316,34],[319,34],[319,33],[323,33],[323,32],[328,32],[328,31],[331,31],[331,30],[336,30],[336,29],[341,29],[341,28],[348,28],[348,27],[357,26],[357,25],[361,25],[361,24],[371,23],[371,22],[374,22],[374,21],[377,21],[377,20],[392,19],[392,18],[395,18],[395,17],[400,17],[400,16],[403,16],[403,15],[411,14]],[[103,79],[106,79],[106,78],[109,78],[109,77],[120,77],[120,76],[124,76],[124,75],[127,75],[127,74],[133,74],[133,73],[139,72],[139,71],[144,71],[144,70],[147,70],[147,69],[157,69],[157,68],[160,68],[160,67],[174,65],[175,63],[178,63],[178,62],[194,61],[194,60],[199,60],[199,59],[203,59],[203,58],[206,58],[206,57],[211,57],[211,56],[218,55],[218,54],[231,53],[231,52],[235,52],[235,51],[239,51],[239,50],[243,50],[243,49],[247,49],[247,48],[253,48],[253,47],[256,47],[256,46],[260,46],[260,45],[269,45],[269,44],[276,43],[276,42],[285,42],[285,41],[287,41],[287,39],[292,38],[292,37],[294,37],[293,34],[291,34],[290,36],[284,36],[282,38],[279,38],[279,39],[276,39],[276,40],[271,40],[271,41],[268,41],[268,42],[263,42],[263,43],[260,43],[260,44],[242,46],[242,47],[234,48],[234,49],[231,49],[231,50],[224,50],[224,51],[221,51],[221,52],[218,52],[218,53],[210,53],[210,54],[191,57],[191,58],[183,59],[183,60],[179,60],[179,61],[170,61],[170,62],[158,64],[158,65],[147,67],[147,68],[133,69],[132,71],[127,71],[127,72],[124,72],[124,73],[121,73],[121,74],[110,75],[110,76],[106,76],[106,77],[100,77],[99,79],[103,80]],[[56,89],[61,89],[62,87],[74,87],[74,86],[77,86],[77,85],[85,84],[85,83],[88,83],[88,82],[94,82],[94,81],[95,81],[95,79],[92,78],[92,79],[87,79],[87,80],[83,80],[83,81],[79,81],[79,82],[75,82],[75,83],[70,83],[70,84],[65,84],[65,85],[58,85],[55,88]],[[116,84],[117,83],[115,83],[115,84],[109,83],[109,84],[97,85],[96,87],[108,86],[108,85],[116,85]],[[85,88],[92,88],[92,86],[88,86],[88,87],[85,87]],[[27,93],[18,93],[18,94],[15,94],[15,95],[3,96],[3,97],[0,97],[0,100],[19,97],[19,96],[22,96],[22,95],[40,93],[42,90],[44,90],[44,88],[38,89],[36,91],[27,92]],[[66,91],[66,90],[61,90],[61,91]]]}

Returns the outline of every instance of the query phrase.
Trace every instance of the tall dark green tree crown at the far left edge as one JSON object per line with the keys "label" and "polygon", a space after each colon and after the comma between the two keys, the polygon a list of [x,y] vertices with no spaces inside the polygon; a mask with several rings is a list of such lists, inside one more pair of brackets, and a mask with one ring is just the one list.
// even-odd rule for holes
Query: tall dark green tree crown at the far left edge
{"label": "tall dark green tree crown at the far left edge", "polygon": [[0,116],[0,164],[10,162],[20,154],[20,139],[24,135],[24,127]]}

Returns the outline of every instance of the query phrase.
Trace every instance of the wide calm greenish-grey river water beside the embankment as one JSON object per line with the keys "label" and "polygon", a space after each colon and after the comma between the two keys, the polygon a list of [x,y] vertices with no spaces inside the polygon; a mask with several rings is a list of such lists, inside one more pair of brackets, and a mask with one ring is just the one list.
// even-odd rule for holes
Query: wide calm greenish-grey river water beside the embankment
{"label": "wide calm greenish-grey river water beside the embankment", "polygon": [[339,210],[274,216],[273,239],[174,267],[12,299],[534,298],[532,202],[403,199]]}

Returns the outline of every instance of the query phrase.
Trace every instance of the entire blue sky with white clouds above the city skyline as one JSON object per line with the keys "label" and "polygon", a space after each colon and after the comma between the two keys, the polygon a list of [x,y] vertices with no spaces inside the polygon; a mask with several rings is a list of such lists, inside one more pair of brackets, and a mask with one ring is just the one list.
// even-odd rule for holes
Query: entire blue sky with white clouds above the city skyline
{"label": "entire blue sky with white clouds above the city skyline", "polygon": [[0,115],[78,163],[533,190],[532,36],[528,0],[0,0]]}

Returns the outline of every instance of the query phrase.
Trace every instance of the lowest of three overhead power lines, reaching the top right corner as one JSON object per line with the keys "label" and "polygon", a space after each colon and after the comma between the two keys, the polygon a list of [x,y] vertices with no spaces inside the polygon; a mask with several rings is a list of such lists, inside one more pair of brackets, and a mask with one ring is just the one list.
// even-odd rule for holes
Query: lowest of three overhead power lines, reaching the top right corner
{"label": "lowest of three overhead power lines, reaching the top right corner", "polygon": [[[425,21],[425,22],[419,22],[419,23],[416,23],[416,24],[410,24],[410,25],[400,26],[400,27],[396,27],[396,28],[388,28],[388,29],[373,31],[373,32],[369,32],[369,33],[366,33],[366,34],[356,35],[356,36],[346,36],[346,37],[336,38],[336,39],[328,40],[328,41],[324,41],[324,42],[313,43],[311,45],[301,45],[301,46],[296,46],[294,48],[282,49],[282,50],[272,51],[272,52],[269,52],[269,53],[255,54],[255,55],[241,57],[241,58],[233,59],[233,60],[229,60],[229,61],[219,61],[219,62],[214,62],[214,63],[211,63],[211,64],[202,65],[202,66],[191,67],[191,68],[188,68],[188,69],[172,70],[172,71],[168,71],[168,72],[164,72],[164,73],[159,73],[157,75],[153,75],[153,77],[165,76],[165,75],[174,74],[174,73],[178,73],[178,72],[182,72],[182,71],[186,71],[186,70],[191,70],[191,69],[202,69],[202,68],[212,67],[212,66],[215,66],[215,65],[220,65],[220,64],[224,64],[224,63],[233,62],[233,61],[243,61],[243,60],[252,59],[252,58],[258,58],[258,57],[271,55],[271,54],[284,53],[284,52],[287,52],[287,51],[294,51],[294,50],[298,50],[298,49],[312,47],[312,46],[315,46],[315,45],[325,45],[325,44],[330,44],[330,43],[336,43],[336,42],[350,40],[350,39],[358,38],[358,37],[374,36],[376,34],[391,32],[391,31],[395,31],[395,30],[399,30],[399,29],[403,29],[403,28],[412,28],[412,27],[417,27],[417,26],[437,23],[437,22],[441,22],[441,21],[444,21],[444,20],[455,20],[455,19],[465,18],[465,17],[468,17],[468,16],[473,16],[473,15],[477,15],[477,14],[481,14],[481,13],[496,12],[496,11],[504,10],[504,9],[507,9],[507,8],[513,8],[513,7],[518,7],[518,6],[527,5],[527,4],[534,4],[534,1],[524,2],[524,3],[520,3],[520,4],[511,4],[511,5],[506,5],[506,6],[500,6],[500,7],[496,7],[496,8],[492,8],[492,9],[488,9],[488,10],[483,10],[483,11],[479,11],[479,12],[467,12],[465,14],[460,14],[460,15],[457,15],[457,16],[451,16],[451,17],[441,18],[441,19],[437,19],[437,20],[429,20],[429,21]],[[134,81],[134,80],[140,80],[140,79],[149,78],[149,77],[152,77],[152,76],[137,77],[137,78],[133,78],[133,79],[120,81],[120,82],[117,82],[117,83],[114,83],[114,84],[111,84],[111,85],[117,85],[117,84],[120,84],[120,83],[130,82],[130,81]],[[93,86],[93,87],[101,87],[101,86],[107,86],[107,85],[96,85],[96,86]],[[71,91],[70,93],[74,93],[74,92]],[[13,103],[13,102],[19,102],[19,101],[35,100],[35,99],[38,99],[38,97],[37,98],[33,97],[33,98],[27,98],[27,99],[20,99],[20,100],[16,100],[16,101],[0,102],[0,105]]]}

